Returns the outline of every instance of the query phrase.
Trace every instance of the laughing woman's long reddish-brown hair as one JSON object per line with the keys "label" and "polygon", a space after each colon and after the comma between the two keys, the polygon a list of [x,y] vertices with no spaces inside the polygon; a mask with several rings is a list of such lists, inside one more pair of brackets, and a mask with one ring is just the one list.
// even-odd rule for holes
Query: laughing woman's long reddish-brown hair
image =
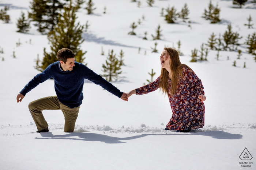
{"label": "laughing woman's long reddish-brown hair", "polygon": [[[171,75],[172,75],[172,86],[171,86],[171,95],[175,94],[175,90],[178,86],[180,77],[182,77],[182,66],[188,67],[186,64],[181,64],[180,62],[180,56],[176,50],[173,48],[164,48],[170,56],[170,69],[171,69]],[[188,67],[189,68],[189,67]],[[191,70],[191,68],[189,68]],[[161,70],[161,76],[159,81],[159,87],[160,90],[163,92],[163,94],[168,95],[168,80],[169,80],[169,72],[162,68]]]}

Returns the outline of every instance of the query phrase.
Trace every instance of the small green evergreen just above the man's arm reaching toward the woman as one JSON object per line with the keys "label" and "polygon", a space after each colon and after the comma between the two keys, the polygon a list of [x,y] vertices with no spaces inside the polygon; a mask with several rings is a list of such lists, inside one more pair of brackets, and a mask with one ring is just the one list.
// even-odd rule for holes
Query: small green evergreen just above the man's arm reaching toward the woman
{"label": "small green evergreen just above the man's arm reaching toward the woman", "polygon": [[113,50],[111,53],[109,53],[109,57],[106,60],[106,65],[102,64],[103,72],[106,74],[103,74],[101,76],[105,77],[107,81],[111,82],[113,79],[118,79],[118,74],[121,74],[121,66],[120,62],[116,58],[116,54],[113,54]]}

